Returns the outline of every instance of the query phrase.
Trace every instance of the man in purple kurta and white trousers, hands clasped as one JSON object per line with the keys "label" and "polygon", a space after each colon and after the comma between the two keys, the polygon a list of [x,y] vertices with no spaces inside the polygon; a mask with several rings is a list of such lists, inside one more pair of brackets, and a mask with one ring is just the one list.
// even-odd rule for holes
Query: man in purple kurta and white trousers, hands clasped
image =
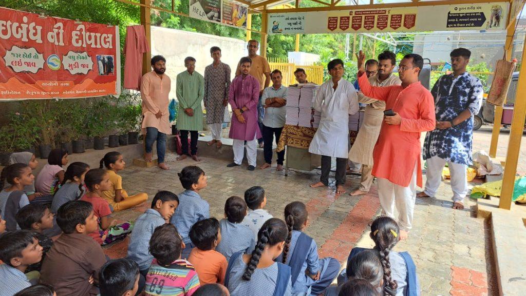
{"label": "man in purple kurta and white trousers, hands clasped", "polygon": [[247,141],[248,170],[256,168],[257,139],[261,138],[258,126],[257,105],[259,100],[259,81],[249,74],[252,60],[241,58],[239,65],[241,75],[232,80],[228,93],[228,103],[232,107],[230,138],[234,139],[234,162],[227,167],[241,165],[245,156],[245,141]]}

